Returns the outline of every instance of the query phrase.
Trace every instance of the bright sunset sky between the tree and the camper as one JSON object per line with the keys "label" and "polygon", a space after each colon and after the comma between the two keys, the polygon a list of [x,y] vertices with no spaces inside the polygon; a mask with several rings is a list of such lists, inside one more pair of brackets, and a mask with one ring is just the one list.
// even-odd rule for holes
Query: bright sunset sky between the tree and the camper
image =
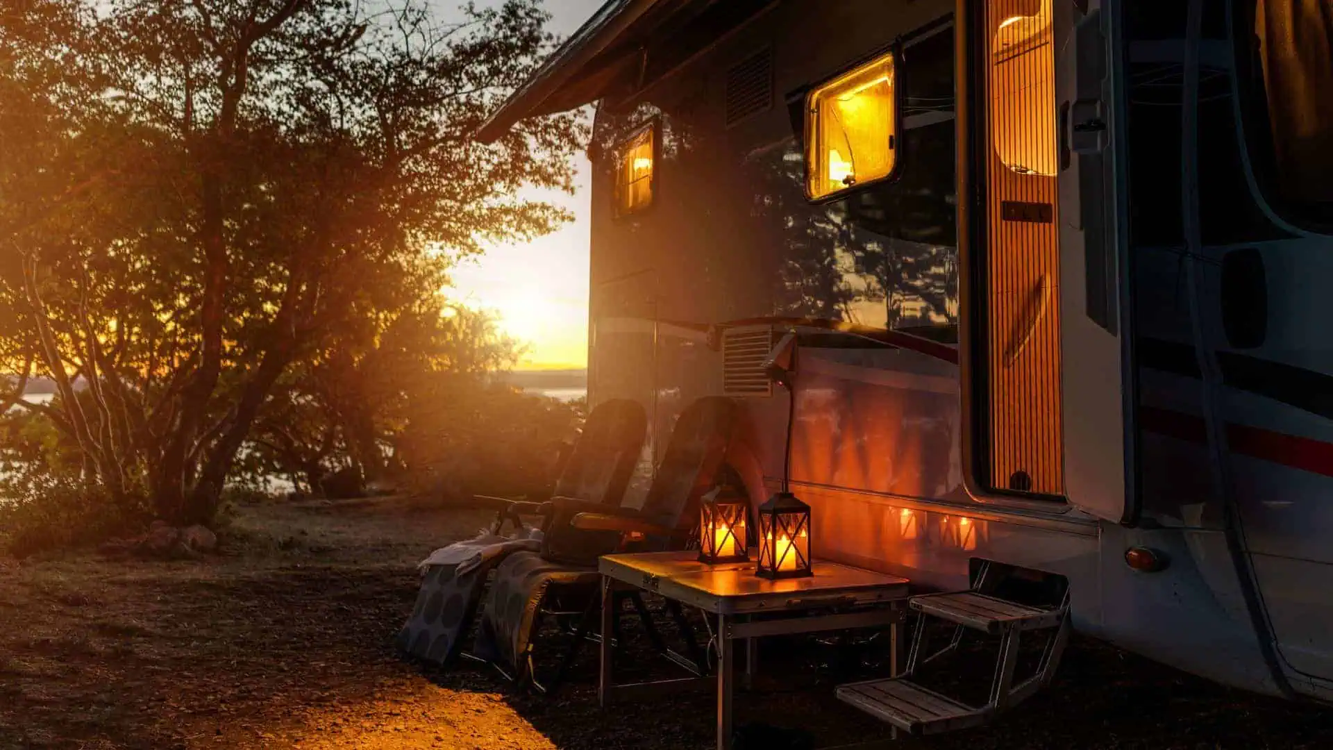
{"label": "bright sunset sky between the tree and the camper", "polygon": [[[448,13],[459,0],[436,0]],[[499,5],[485,0],[479,5]],[[545,0],[551,29],[569,36],[603,0]],[[529,191],[575,212],[575,222],[532,243],[496,246],[453,271],[453,296],[492,310],[505,332],[523,340],[524,370],[581,368],[588,363],[588,160],[577,156],[579,192]]]}

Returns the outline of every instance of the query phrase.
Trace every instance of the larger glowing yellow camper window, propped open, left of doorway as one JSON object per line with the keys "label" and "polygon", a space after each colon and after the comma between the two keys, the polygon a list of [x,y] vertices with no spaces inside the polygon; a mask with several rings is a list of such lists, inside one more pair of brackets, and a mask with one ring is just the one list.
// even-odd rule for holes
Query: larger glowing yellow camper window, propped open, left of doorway
{"label": "larger glowing yellow camper window, propped open, left of doorway", "polygon": [[893,173],[896,131],[892,52],[812,91],[805,107],[809,198],[825,199]]}

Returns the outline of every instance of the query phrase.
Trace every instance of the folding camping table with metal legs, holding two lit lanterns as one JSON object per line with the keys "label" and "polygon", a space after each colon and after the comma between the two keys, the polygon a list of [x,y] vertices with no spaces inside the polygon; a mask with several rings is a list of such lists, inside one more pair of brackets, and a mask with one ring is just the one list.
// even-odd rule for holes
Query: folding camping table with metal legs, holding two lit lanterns
{"label": "folding camping table with metal legs, holding two lit lanterns", "polygon": [[[845,565],[814,560],[814,575],[768,581],[754,575],[754,563],[709,566],[698,552],[641,552],[604,555],[603,601],[620,589],[652,591],[666,599],[704,610],[717,623],[717,750],[732,741],[732,694],[737,641],[745,643],[745,682],[754,670],[756,639],[764,635],[820,633],[853,627],[889,627],[890,670],[898,673],[900,606],[908,597],[908,581]],[[833,611],[829,611],[833,610]],[[613,607],[601,609],[601,631],[612,633]],[[690,687],[700,678],[668,679],[636,685],[612,682],[613,639],[601,639],[601,674],[597,698],[605,707],[616,694]]]}

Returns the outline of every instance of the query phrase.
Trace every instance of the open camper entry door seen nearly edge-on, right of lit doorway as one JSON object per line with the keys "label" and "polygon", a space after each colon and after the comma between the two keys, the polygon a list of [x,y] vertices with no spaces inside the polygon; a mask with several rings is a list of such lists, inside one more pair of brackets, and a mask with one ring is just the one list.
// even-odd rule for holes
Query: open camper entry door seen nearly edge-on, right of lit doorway
{"label": "open camper entry door seen nearly edge-on, right of lit doorway", "polygon": [[1132,522],[1113,23],[1106,0],[1054,7],[1065,492],[1093,515]]}

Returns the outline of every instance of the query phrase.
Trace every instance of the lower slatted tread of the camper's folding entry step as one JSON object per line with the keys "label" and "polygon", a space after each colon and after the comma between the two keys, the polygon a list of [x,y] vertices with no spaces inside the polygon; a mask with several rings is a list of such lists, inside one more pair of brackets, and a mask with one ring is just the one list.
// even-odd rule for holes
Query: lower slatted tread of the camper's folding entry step
{"label": "lower slatted tread of the camper's folding entry step", "polygon": [[836,694],[838,701],[913,735],[980,726],[992,713],[989,709],[973,709],[904,678],[840,685]]}

